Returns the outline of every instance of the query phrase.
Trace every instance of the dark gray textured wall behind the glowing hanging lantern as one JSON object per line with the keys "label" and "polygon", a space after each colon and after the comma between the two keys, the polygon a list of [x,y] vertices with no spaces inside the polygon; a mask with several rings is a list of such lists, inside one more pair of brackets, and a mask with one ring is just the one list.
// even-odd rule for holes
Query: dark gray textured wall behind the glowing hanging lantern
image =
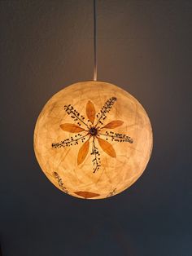
{"label": "dark gray textured wall behind the glowing hanging lantern", "polygon": [[47,99],[93,77],[89,0],[1,1],[1,210],[5,256],[190,256],[191,1],[98,1],[98,80],[146,108],[141,179],[103,201],[56,189],[33,153]]}

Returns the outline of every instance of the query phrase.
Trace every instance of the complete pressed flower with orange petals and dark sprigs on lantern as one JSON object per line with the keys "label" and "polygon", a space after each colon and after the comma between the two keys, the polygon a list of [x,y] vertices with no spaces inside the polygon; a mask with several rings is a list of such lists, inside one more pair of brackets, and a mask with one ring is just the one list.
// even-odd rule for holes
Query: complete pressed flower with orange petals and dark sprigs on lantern
{"label": "complete pressed flower with orange petals and dark sprigs on lantern", "polygon": [[[103,108],[99,113],[96,114],[94,104],[89,100],[86,104],[86,115],[88,120],[85,120],[85,117],[76,111],[71,104],[65,105],[64,110],[73,121],[76,121],[76,124],[72,123],[63,123],[60,125],[60,128],[64,131],[75,133],[75,136],[72,136],[68,139],[64,139],[59,143],[52,143],[52,148],[62,148],[70,147],[82,143],[81,148],[79,149],[77,155],[77,165],[81,165],[85,161],[90,148],[91,141],[91,151],[90,154],[93,156],[93,167],[94,173],[101,166],[100,152],[98,145],[107,153],[110,157],[116,157],[116,151],[108,142],[108,140],[116,142],[128,142],[133,143],[133,139],[129,135],[124,135],[109,131],[107,129],[115,129],[119,126],[122,126],[124,121],[114,120],[108,122],[104,125],[104,122],[107,118],[107,113],[111,111],[112,106],[116,103],[116,97],[107,99],[106,103],[103,105]],[[96,143],[96,140],[98,143]]]}

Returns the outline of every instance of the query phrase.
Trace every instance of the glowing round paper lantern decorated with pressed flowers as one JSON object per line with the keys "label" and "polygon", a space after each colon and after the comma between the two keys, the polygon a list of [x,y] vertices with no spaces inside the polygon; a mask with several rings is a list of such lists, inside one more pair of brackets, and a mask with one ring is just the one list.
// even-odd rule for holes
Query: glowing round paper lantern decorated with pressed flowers
{"label": "glowing round paper lantern decorated with pressed flowers", "polygon": [[129,188],[151,157],[146,111],[107,82],[78,82],[42,109],[34,150],[51,183],[71,196],[100,199]]}

